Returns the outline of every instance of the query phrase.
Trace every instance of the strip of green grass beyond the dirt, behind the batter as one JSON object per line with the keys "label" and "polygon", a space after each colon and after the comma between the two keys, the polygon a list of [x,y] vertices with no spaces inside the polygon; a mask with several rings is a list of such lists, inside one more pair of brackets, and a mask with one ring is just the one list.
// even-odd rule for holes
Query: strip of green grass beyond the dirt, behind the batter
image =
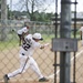
{"label": "strip of green grass beyond the dirt, behind the batter", "polygon": [[[54,34],[42,34],[42,38],[43,38],[43,43],[46,43],[46,42],[51,42],[52,41],[52,38],[54,38],[55,35]],[[0,41],[0,51],[1,50],[6,50],[6,49],[12,49],[12,48],[15,48],[15,46],[19,46],[19,40],[17,39],[15,34],[9,34],[8,37],[8,41]],[[59,38],[59,35],[58,35]],[[74,38],[73,33],[71,35],[71,38]],[[80,38],[80,33],[76,33],[76,39]]]}

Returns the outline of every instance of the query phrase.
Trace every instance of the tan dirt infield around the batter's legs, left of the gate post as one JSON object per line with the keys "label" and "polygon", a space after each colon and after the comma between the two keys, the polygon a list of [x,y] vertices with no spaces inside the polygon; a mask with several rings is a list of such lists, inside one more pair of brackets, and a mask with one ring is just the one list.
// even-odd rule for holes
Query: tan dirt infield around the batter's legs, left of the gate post
{"label": "tan dirt infield around the batter's legs, left of the gate post", "polygon": [[[3,83],[4,74],[13,72],[19,68],[19,49],[20,48],[13,48],[0,52],[0,83]],[[53,74],[54,54],[51,51],[51,45],[49,48],[45,48],[44,50],[35,50],[33,58],[37,61],[43,75],[49,76]],[[32,81],[28,81],[30,79],[32,79]],[[9,83],[39,83],[37,80],[37,74],[31,69],[28,69],[25,73],[11,79]],[[52,81],[48,83],[52,83]]]}

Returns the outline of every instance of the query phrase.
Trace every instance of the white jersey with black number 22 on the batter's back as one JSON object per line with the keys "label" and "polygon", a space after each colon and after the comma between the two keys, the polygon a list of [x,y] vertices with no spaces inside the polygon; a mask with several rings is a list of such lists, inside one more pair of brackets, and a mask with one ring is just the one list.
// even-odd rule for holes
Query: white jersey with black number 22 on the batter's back
{"label": "white jersey with black number 22 on the batter's back", "polygon": [[23,54],[30,56],[33,54],[33,52],[37,48],[41,46],[41,44],[39,42],[35,42],[32,39],[32,34],[28,34],[24,40],[25,40],[25,43],[22,44],[20,53],[23,53]]}

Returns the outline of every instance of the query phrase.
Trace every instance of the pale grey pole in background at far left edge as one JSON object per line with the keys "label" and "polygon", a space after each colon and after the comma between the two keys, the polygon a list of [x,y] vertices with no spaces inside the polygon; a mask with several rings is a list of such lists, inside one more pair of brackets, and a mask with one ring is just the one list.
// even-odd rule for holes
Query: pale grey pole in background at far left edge
{"label": "pale grey pole in background at far left edge", "polygon": [[7,0],[1,0],[1,41],[7,38]]}

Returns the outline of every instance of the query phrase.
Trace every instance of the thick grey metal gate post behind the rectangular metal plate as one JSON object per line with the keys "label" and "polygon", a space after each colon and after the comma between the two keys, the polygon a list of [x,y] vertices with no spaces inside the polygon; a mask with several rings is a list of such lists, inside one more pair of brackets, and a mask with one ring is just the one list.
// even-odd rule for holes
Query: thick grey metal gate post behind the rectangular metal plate
{"label": "thick grey metal gate post behind the rectangular metal plate", "polygon": [[[61,0],[60,37],[71,38],[71,0]],[[70,52],[60,52],[60,83],[70,83]]]}

